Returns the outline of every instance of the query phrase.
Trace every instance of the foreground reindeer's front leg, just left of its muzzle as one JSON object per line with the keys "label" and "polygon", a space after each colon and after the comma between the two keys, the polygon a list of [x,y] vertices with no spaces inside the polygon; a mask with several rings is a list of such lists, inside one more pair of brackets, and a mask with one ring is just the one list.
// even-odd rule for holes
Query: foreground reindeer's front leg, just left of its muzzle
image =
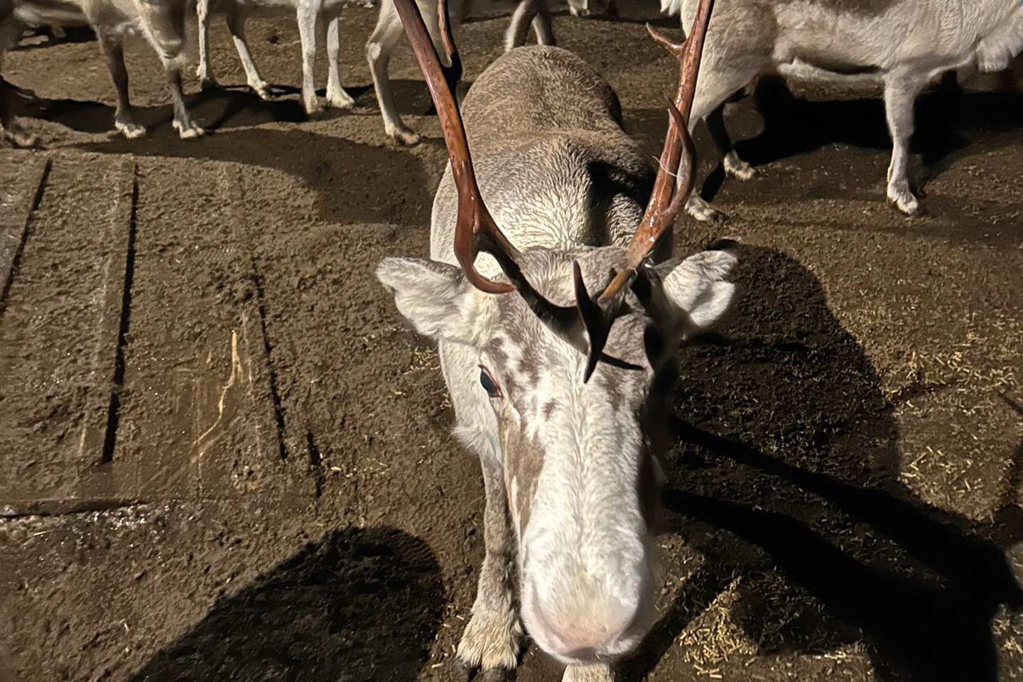
{"label": "foreground reindeer's front leg, just left of its muzzle", "polygon": [[487,554],[473,604],[473,618],[458,643],[458,662],[481,669],[485,682],[497,682],[519,664],[522,622],[515,607],[515,537],[500,463],[490,453],[480,457],[486,509],[483,540]]}

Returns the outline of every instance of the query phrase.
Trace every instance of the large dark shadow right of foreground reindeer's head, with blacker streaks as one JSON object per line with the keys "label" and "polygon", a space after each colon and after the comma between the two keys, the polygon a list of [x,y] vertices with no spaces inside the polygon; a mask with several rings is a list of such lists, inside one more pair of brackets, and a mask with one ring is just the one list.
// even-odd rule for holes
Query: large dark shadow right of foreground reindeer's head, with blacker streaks
{"label": "large dark shadow right of foreground reindeer's head, with blacker streaks", "polygon": [[995,682],[991,617],[1023,607],[1006,557],[1023,509],[979,524],[921,502],[899,481],[894,405],[817,279],[767,248],[739,256],[731,322],[681,353],[665,462],[669,526],[706,561],[621,679],[644,679],[739,579],[732,617],[763,653],[863,640],[885,679]]}

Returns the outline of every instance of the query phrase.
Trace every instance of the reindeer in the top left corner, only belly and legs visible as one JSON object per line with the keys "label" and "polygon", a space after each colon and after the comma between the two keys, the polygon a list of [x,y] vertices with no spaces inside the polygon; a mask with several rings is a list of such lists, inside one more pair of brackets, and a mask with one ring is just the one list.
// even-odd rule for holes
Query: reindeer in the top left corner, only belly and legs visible
{"label": "reindeer in the top left corner, only belly and legs visible", "polygon": [[[26,27],[92,27],[118,95],[114,127],[125,137],[135,138],[144,135],[145,128],[132,117],[122,41],[125,35],[142,34],[164,64],[174,103],[174,128],[182,139],[198,137],[203,129],[188,116],[181,91],[187,8],[187,0],[0,0],[0,58],[17,44]],[[0,88],[3,137],[15,145],[31,146],[36,139],[14,121],[10,94],[10,88]]]}

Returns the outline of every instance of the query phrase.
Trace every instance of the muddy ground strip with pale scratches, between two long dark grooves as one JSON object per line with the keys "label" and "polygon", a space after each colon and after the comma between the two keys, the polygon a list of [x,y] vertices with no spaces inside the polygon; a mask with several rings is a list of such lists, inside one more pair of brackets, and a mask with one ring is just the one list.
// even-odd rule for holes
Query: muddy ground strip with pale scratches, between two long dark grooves
{"label": "muddy ground strip with pale scratches, between two long dark grooves", "polygon": [[145,499],[308,499],[283,445],[258,273],[240,231],[239,171],[180,170],[163,163],[140,173],[115,461],[135,467]]}

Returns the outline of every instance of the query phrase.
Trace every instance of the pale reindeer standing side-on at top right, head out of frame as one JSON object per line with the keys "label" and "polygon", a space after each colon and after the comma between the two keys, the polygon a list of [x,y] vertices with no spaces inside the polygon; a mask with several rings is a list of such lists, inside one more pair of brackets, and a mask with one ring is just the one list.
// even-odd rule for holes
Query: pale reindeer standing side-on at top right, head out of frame
{"label": "pale reindeer standing side-on at top right, head out of frame", "polygon": [[[662,0],[661,8],[680,13],[684,28],[698,4]],[[1023,5],[1012,0],[718,0],[716,12],[690,125],[706,119],[725,172],[755,175],[732,149],[721,107],[756,76],[881,85],[892,138],[888,200],[907,216],[921,211],[907,174],[917,96],[947,71],[998,72],[1023,49]],[[686,211],[723,218],[696,193]]]}

